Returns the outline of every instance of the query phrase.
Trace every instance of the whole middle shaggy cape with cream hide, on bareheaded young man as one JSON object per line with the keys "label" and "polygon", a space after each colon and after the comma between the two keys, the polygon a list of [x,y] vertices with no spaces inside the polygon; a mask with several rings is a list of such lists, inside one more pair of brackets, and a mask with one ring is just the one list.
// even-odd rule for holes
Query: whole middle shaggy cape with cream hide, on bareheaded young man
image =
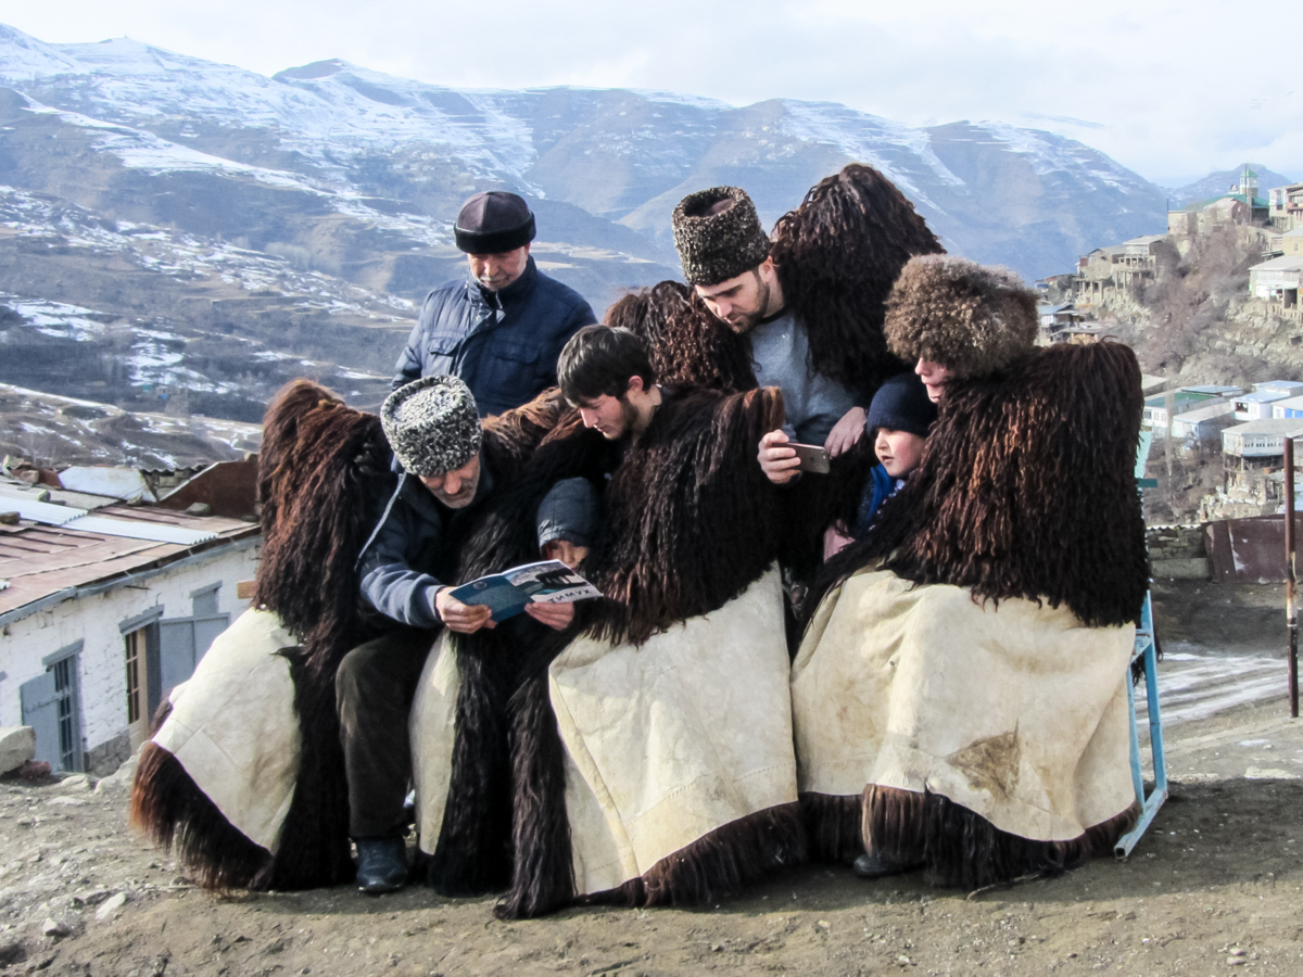
{"label": "whole middle shaggy cape with cream hide, on bareheaded young man", "polygon": [[[468,554],[468,573],[500,569],[512,552],[519,560],[537,554],[533,513],[543,492],[571,477],[601,486],[614,468],[599,537],[580,567],[606,597],[579,604],[567,632],[530,650],[509,703],[513,874],[502,916],[537,916],[576,900],[701,903],[803,857],[788,659],[771,569],[780,498],[754,462],[761,434],[780,422],[773,389],[680,392],[614,468],[614,446],[572,416],[539,447],[515,492],[495,503],[499,518]],[[457,831],[459,792],[446,784],[457,783],[465,763],[447,737],[457,727],[452,701],[478,685],[468,666],[506,650],[498,632],[448,636],[427,662],[413,707],[421,847],[431,853],[437,888],[482,858],[490,842]],[[724,720],[741,719],[748,703],[728,709],[736,693],[753,693],[752,713],[764,718],[748,713],[747,722],[767,729],[756,736],[764,746],[721,771],[714,754],[739,729],[721,726],[710,703]],[[658,710],[663,722],[636,722]],[[666,763],[667,752],[683,762]],[[698,758],[710,769],[684,778]],[[756,774],[754,791],[737,786],[739,770]],[[619,793],[666,771],[678,778],[678,796],[661,810],[654,839],[632,827],[654,800],[622,806],[597,797],[601,784]],[[612,774],[625,779],[612,787]],[[694,804],[724,782],[728,802],[701,813]]]}

